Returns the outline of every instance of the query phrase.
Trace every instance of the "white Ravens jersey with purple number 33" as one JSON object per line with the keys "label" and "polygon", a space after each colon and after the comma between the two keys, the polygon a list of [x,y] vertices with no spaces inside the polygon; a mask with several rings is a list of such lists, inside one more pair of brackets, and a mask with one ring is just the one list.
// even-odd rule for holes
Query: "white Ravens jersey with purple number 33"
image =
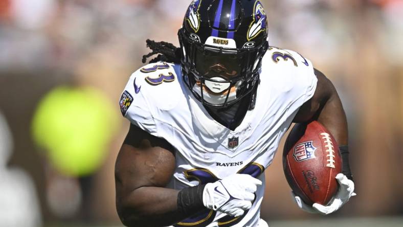
{"label": "white Ravens jersey with purple number 33", "polygon": [[234,173],[263,182],[252,208],[234,218],[207,210],[175,226],[257,226],[264,193],[264,170],[299,107],[315,92],[311,62],[300,54],[270,48],[262,60],[255,109],[230,130],[216,122],[183,81],[181,65],[165,62],[133,73],[120,100],[122,114],[176,151],[169,188],[214,182]]}

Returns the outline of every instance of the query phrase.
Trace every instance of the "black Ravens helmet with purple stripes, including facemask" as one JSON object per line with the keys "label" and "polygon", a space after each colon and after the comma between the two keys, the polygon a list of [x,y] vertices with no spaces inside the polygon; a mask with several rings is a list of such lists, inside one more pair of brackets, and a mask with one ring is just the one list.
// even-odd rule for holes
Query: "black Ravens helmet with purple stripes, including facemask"
{"label": "black Ravens helmet with purple stripes, including facemask", "polygon": [[194,0],[178,32],[184,81],[204,105],[227,107],[256,88],[268,48],[256,0]]}

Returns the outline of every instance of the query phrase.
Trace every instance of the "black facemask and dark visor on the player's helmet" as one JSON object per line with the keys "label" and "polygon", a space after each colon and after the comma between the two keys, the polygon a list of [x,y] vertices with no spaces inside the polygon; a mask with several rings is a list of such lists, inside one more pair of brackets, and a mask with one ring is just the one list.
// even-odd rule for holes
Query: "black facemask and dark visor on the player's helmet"
{"label": "black facemask and dark visor on the player's helmet", "polygon": [[248,95],[258,82],[268,43],[249,49],[201,44],[179,31],[185,81],[203,105],[227,107]]}

